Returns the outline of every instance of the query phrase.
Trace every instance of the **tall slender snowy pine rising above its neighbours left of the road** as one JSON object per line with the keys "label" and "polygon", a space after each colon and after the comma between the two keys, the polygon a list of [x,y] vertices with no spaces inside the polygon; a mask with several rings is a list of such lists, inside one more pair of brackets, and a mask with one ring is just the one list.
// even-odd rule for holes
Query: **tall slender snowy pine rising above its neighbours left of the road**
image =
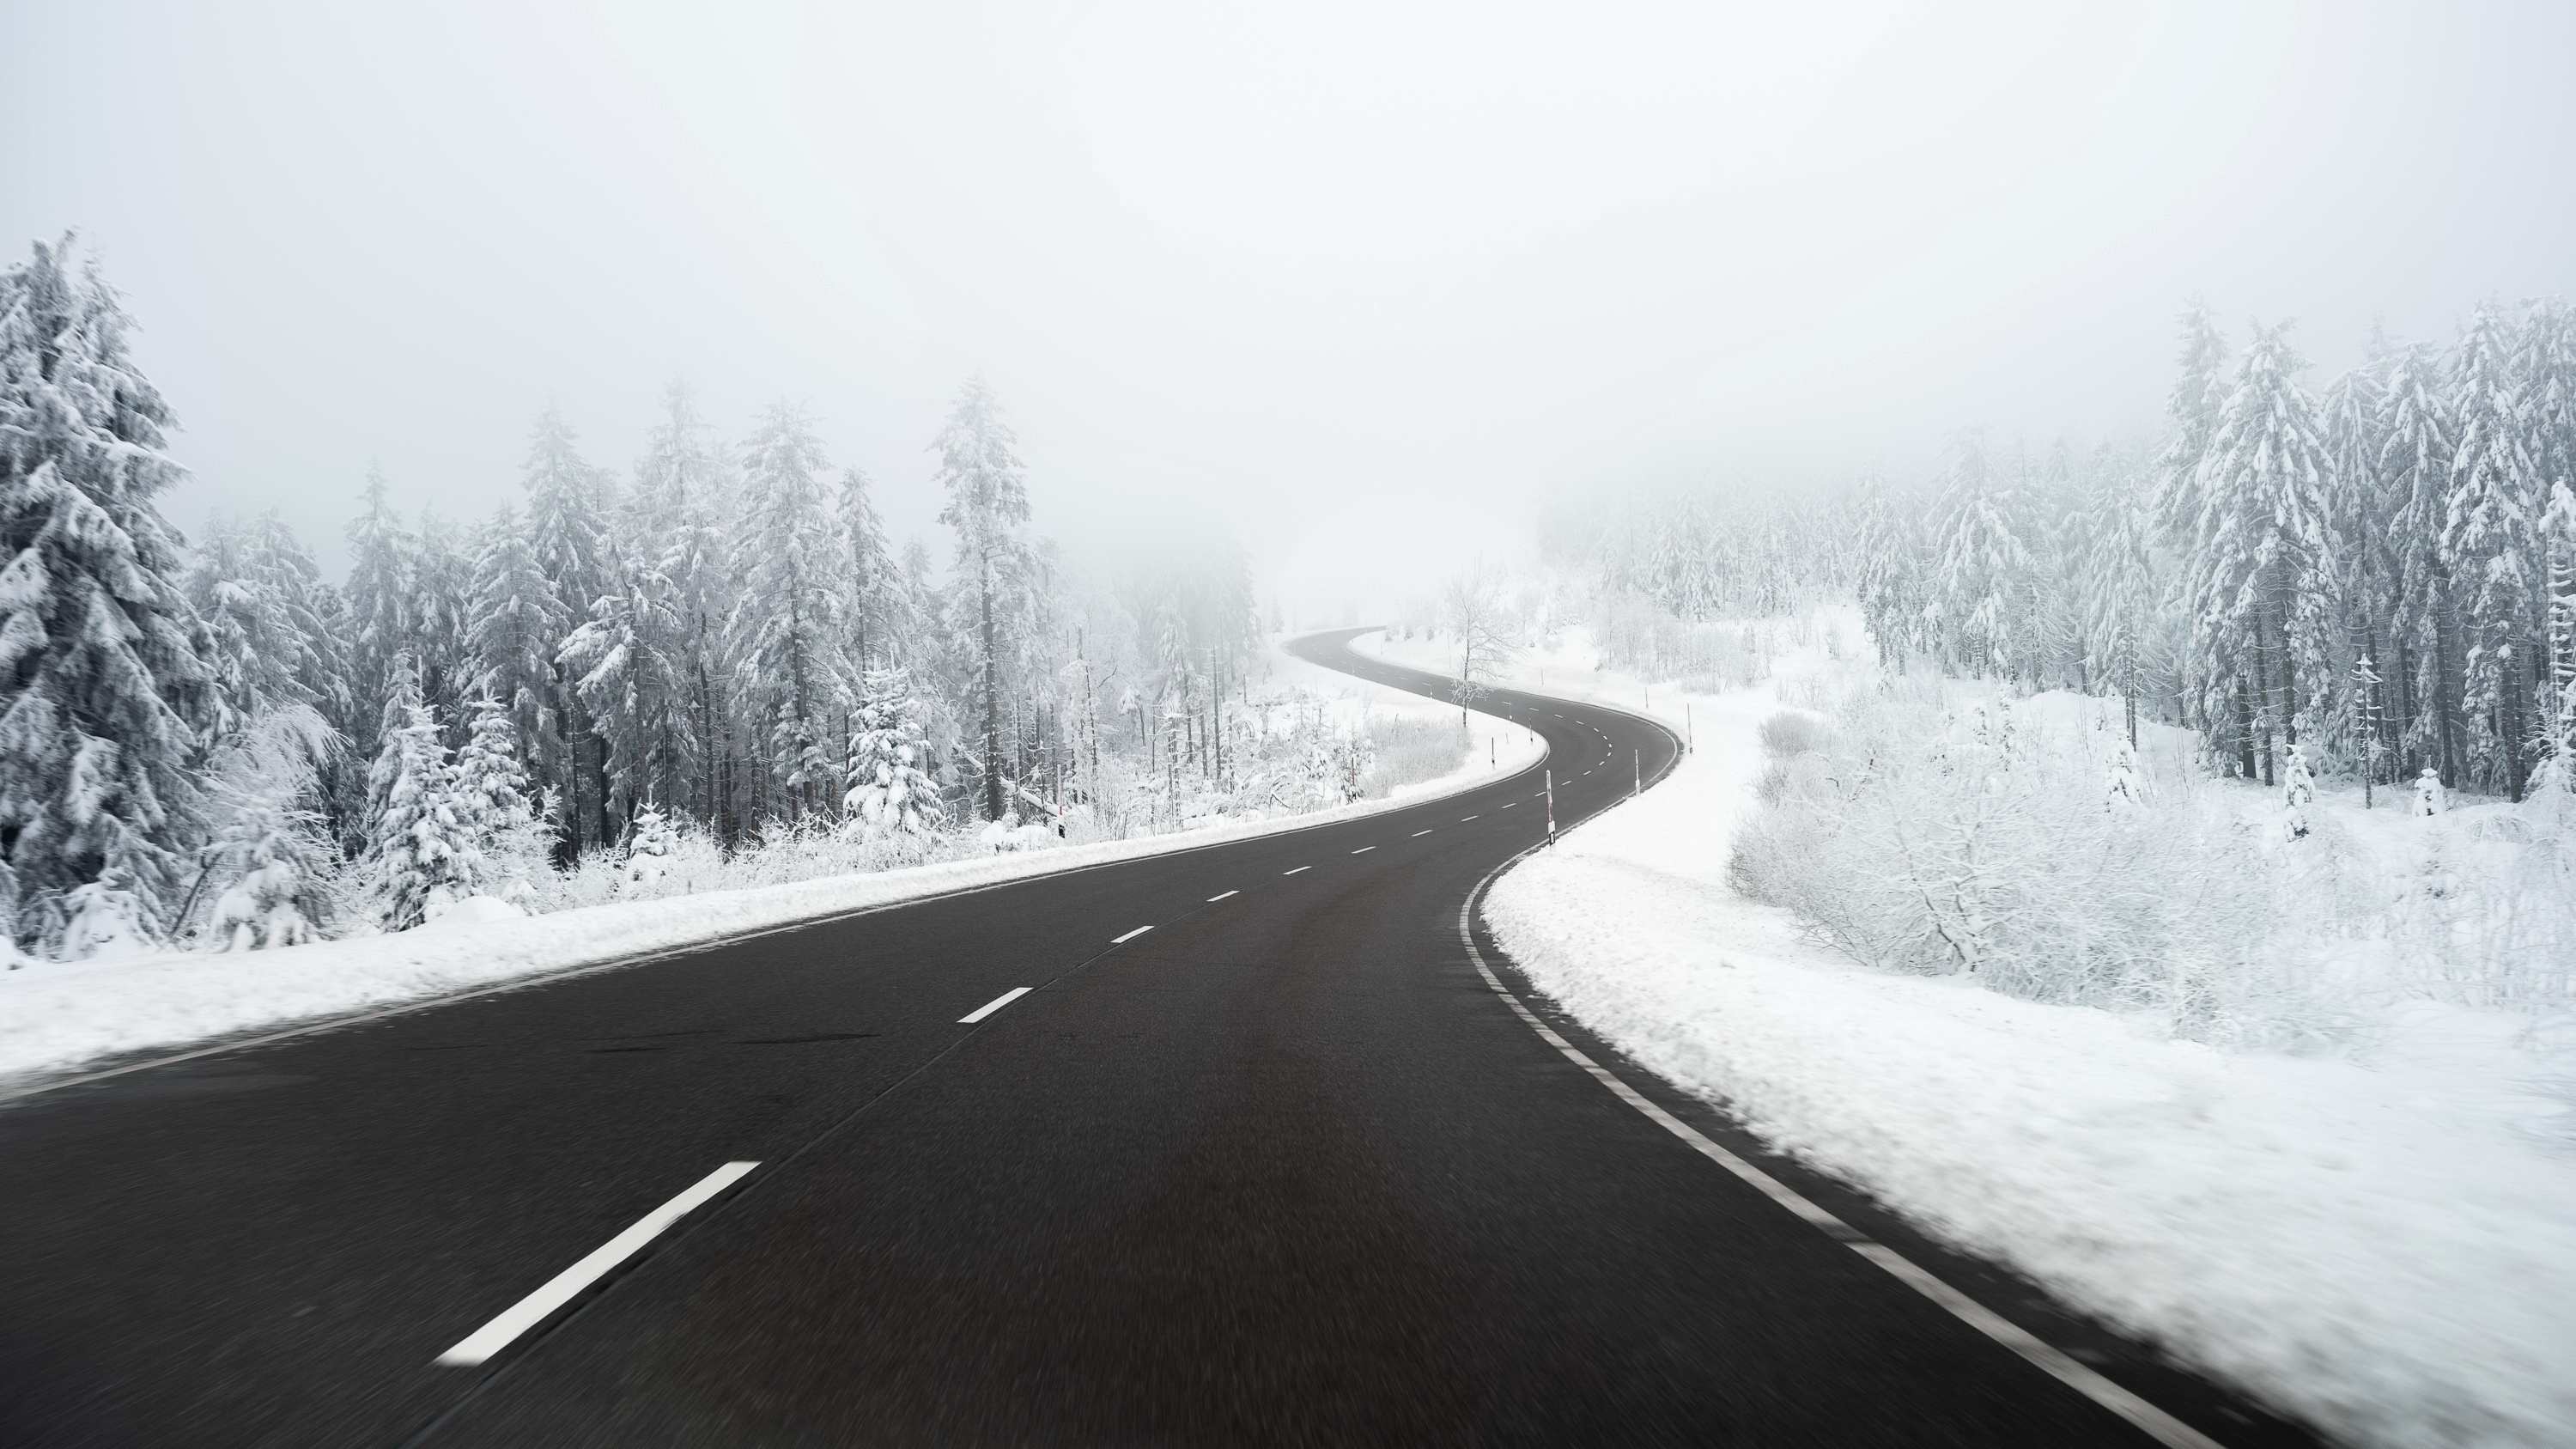
{"label": "tall slender snowy pine rising above its neighbours left of the road", "polygon": [[984,722],[984,753],[976,771],[984,776],[984,817],[1002,817],[1002,629],[1012,614],[1015,596],[1025,588],[1028,541],[1020,526],[1028,523],[1028,485],[1020,477],[1018,438],[1002,423],[1002,405],[984,376],[969,376],[958,389],[956,407],[933,451],[940,454],[940,487],[948,505],[940,523],[958,531],[958,588],[961,603],[974,611],[974,663],[979,709]]}

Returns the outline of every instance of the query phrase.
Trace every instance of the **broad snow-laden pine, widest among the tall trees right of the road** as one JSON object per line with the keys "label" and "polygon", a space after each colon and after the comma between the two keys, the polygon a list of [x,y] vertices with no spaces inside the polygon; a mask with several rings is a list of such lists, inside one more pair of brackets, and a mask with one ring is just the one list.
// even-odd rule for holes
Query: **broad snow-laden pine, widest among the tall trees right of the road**
{"label": "broad snow-laden pine, widest among the tall trees right of the road", "polygon": [[2326,446],[2290,325],[2254,327],[2236,387],[2200,464],[2200,518],[2187,554],[2192,673],[2208,691],[2208,730],[2233,743],[2239,768],[2275,779],[2275,740],[2298,743],[2313,704],[2331,699],[2334,619],[2326,608]]}

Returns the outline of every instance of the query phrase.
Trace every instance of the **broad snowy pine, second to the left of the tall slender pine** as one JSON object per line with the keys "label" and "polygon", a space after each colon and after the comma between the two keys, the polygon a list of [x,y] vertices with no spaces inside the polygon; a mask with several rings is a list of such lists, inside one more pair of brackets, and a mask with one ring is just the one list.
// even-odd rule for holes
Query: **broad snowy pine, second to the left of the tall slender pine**
{"label": "broad snowy pine, second to the left of the tall slender pine", "polygon": [[734,668],[765,727],[768,773],[788,817],[829,802],[827,743],[850,686],[842,544],[824,467],[814,418],[793,402],[770,405],[742,443]]}

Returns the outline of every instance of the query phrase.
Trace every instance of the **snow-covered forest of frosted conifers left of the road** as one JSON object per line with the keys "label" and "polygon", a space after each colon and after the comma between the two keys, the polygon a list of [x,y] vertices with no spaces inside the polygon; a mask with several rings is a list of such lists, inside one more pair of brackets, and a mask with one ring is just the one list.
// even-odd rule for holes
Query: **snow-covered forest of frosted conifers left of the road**
{"label": "snow-covered forest of frosted conifers left of the road", "polygon": [[[1095,575],[1033,529],[999,400],[930,443],[951,547],[778,402],[685,384],[629,474],[536,418],[523,503],[353,490],[183,539],[170,405],[70,240],[0,276],[0,949],[258,949],[1383,794],[1463,745],[1260,686],[1239,552]],[[495,908],[497,910],[497,908]]]}

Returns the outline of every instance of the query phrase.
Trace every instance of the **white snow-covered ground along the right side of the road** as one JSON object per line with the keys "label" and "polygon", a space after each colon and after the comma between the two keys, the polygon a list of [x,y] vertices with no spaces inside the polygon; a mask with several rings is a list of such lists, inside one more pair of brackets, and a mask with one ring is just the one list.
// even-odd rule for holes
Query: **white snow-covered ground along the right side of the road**
{"label": "white snow-covered ground along the right side of the road", "polygon": [[[1857,621],[1837,624],[1837,652],[1862,652]],[[2347,1016],[2298,1055],[2187,1039],[2146,1006],[2022,1000],[1826,951],[1728,887],[1765,719],[1857,668],[1803,634],[1749,688],[1651,688],[1698,753],[1497,882],[1486,915],[1533,985],[1775,1147],[2339,1439],[2568,1444],[2576,1129],[2553,1018],[2403,990],[2385,941],[2329,931],[2303,985],[2342,987]],[[1437,639],[1383,650],[1443,663]],[[1649,701],[1597,670],[1579,632],[1510,683],[1535,688],[1540,670],[1551,694]],[[2117,701],[2014,709],[2035,737],[2099,740],[2087,712],[2105,704],[2117,727]],[[2184,768],[2179,732],[2141,745],[2143,773]],[[2272,812],[2269,792],[2215,789],[2249,820]],[[2316,810],[2316,838],[2354,874],[2504,869],[2460,848],[2494,838],[2478,812],[2504,807],[2414,820],[2385,792],[2378,804],[2326,792]]]}

